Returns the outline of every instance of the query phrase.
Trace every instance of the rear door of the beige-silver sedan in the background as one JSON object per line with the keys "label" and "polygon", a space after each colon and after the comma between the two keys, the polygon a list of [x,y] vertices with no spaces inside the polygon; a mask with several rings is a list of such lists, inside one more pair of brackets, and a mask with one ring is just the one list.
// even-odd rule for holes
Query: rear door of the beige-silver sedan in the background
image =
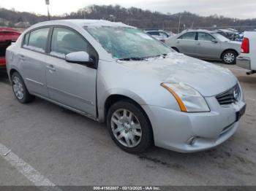
{"label": "rear door of the beige-silver sedan in the background", "polygon": [[179,52],[184,53],[185,55],[195,56],[195,47],[196,47],[196,32],[187,32],[178,37],[176,40],[176,47]]}

